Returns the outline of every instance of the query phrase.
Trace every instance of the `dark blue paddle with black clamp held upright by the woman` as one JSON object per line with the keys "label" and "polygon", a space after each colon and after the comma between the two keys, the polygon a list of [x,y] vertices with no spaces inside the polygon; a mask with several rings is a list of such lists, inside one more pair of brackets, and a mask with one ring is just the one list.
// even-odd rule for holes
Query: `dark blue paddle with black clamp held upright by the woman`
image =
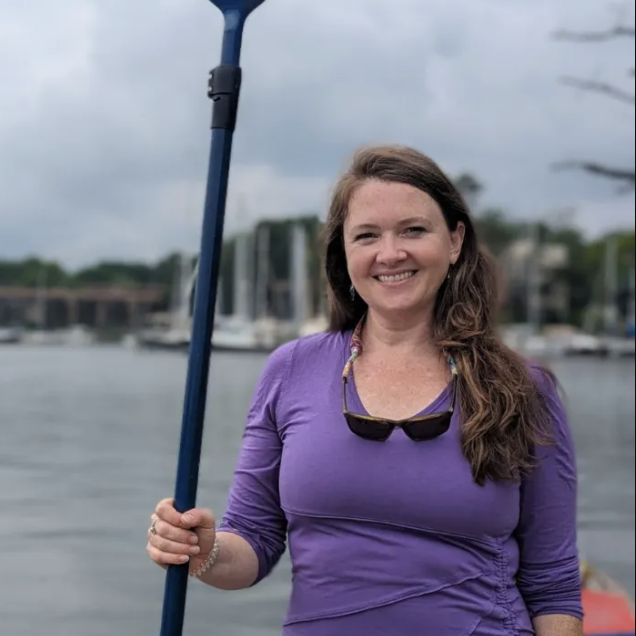
{"label": "dark blue paddle with black clamp held upright by the woman", "polygon": [[[239,62],[243,27],[249,14],[264,0],[212,2],[222,11],[225,27],[221,63],[210,73],[208,89],[208,96],[213,101],[212,139],[177,465],[175,508],[179,512],[195,507],[199,481],[227,182],[241,85]],[[181,636],[183,633],[187,584],[187,563],[168,566],[161,636]]]}

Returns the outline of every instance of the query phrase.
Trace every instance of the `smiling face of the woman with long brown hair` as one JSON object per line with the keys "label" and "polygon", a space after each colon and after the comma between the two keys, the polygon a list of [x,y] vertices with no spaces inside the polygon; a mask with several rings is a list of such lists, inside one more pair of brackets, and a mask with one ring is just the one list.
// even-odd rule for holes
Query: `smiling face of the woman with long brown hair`
{"label": "smiling face of the woman with long brown hair", "polygon": [[344,223],[351,282],[372,311],[388,317],[430,312],[464,232],[463,224],[449,231],[425,192],[369,180],[353,195]]}

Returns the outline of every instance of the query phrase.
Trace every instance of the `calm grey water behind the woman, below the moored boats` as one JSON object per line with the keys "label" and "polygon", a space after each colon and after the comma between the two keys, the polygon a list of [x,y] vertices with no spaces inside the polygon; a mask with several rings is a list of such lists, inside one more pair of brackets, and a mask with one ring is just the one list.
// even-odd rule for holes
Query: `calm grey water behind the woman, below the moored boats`
{"label": "calm grey water behind the woman, below the moored boats", "polygon": [[[263,357],[218,355],[199,504],[223,511]],[[185,358],[0,349],[0,632],[157,636],[164,573],[145,552],[171,496]],[[559,361],[584,554],[634,590],[634,362]],[[186,636],[279,636],[289,563],[254,589],[189,586]]]}

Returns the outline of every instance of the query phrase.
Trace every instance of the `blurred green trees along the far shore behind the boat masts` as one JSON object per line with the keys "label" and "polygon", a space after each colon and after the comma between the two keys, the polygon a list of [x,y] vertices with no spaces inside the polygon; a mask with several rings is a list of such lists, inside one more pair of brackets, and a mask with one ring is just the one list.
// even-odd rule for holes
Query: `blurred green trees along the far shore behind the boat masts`
{"label": "blurred green trees along the far shore behind the boat masts", "polygon": [[[456,183],[464,196],[478,207],[476,200],[482,189],[481,184],[471,175],[461,175]],[[269,278],[270,295],[285,294],[290,280],[291,269],[291,231],[294,224],[302,223],[307,236],[307,265],[309,272],[311,303],[313,310],[321,306],[324,295],[324,279],[321,272],[321,230],[322,222],[316,215],[289,217],[285,219],[266,219],[259,222],[250,232],[253,237],[262,226],[269,230]],[[475,224],[482,242],[498,258],[502,258],[506,249],[515,241],[530,236],[530,224],[524,220],[511,217],[502,209],[484,208],[475,214]],[[606,246],[610,236],[602,236],[587,240],[583,233],[573,224],[567,222],[541,222],[535,225],[541,245],[562,244],[567,247],[569,258],[567,263],[550,273],[550,280],[564,283],[569,293],[568,311],[566,315],[545,316],[550,322],[566,321],[570,324],[582,324],[586,309],[603,294]],[[222,306],[231,311],[233,307],[233,290],[231,281],[234,275],[234,253],[238,235],[228,236],[224,240],[221,259]],[[634,230],[625,229],[614,233],[613,238],[618,246],[617,276],[618,294],[616,301],[620,311],[628,311],[630,275],[634,267],[635,240]],[[250,245],[250,265],[252,273],[258,268],[256,257],[257,241]],[[191,257],[194,266],[195,255]],[[165,306],[170,302],[170,293],[178,275],[180,255],[171,253],[155,263],[124,262],[104,260],[77,271],[69,271],[60,263],[38,258],[36,256],[20,261],[0,260],[0,286],[22,287],[69,287],[82,286],[149,286],[160,285],[165,289]],[[523,284],[523,281],[521,281]],[[282,292],[280,290],[283,290]],[[278,291],[276,291],[278,290]],[[519,291],[519,290],[517,290]],[[508,320],[523,322],[526,317],[525,295],[510,294],[506,306]],[[283,314],[288,313],[289,303],[282,304]],[[279,312],[280,313],[280,312]]]}

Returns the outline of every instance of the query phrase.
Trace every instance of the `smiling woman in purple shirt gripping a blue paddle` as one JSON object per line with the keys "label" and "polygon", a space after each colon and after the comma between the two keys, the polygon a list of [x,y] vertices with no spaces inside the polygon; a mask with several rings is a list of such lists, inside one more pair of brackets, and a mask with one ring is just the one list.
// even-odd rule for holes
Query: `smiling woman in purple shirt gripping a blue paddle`
{"label": "smiling woman in purple shirt gripping a blue paddle", "polygon": [[576,470],[551,378],[495,330],[493,264],[439,167],[364,149],[326,227],[330,329],[276,350],[226,514],[148,551],[219,589],[289,542],[284,636],[578,636]]}

